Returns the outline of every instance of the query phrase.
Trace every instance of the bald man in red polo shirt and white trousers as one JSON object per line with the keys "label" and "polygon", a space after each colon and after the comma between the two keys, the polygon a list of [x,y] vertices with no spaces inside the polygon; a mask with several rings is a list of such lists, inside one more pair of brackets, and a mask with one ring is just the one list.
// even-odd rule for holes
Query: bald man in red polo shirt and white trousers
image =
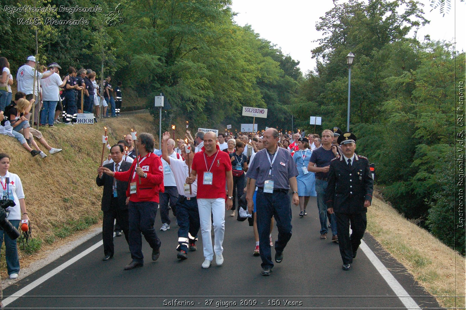
{"label": "bald man in red polo shirt and white trousers", "polygon": [[[233,207],[233,174],[230,156],[221,152],[217,145],[217,136],[210,131],[204,134],[204,146],[201,152],[194,154],[191,176],[186,178],[186,184],[198,180],[198,207],[201,224],[202,244],[205,261],[202,268],[209,268],[213,252],[217,266],[223,264],[223,236],[225,234],[225,209]],[[226,199],[225,182],[228,187]],[[212,248],[211,214],[213,216],[214,247]]]}

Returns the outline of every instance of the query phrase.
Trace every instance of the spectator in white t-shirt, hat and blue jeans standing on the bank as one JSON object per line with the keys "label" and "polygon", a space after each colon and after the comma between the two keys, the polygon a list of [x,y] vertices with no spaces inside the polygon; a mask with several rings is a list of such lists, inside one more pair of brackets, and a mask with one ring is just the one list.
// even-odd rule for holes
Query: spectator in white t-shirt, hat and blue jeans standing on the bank
{"label": "spectator in white t-shirt, hat and blue jeans standing on the bank", "polygon": [[57,71],[58,69],[62,69],[62,67],[60,67],[56,62],[49,64],[48,68],[53,72],[53,74],[42,79],[41,83],[42,100],[44,102],[44,108],[41,112],[41,125],[45,126],[48,120],[48,126],[53,127],[55,120],[55,108],[60,100],[60,88],[65,86],[69,76],[65,76],[63,80],[60,78]]}

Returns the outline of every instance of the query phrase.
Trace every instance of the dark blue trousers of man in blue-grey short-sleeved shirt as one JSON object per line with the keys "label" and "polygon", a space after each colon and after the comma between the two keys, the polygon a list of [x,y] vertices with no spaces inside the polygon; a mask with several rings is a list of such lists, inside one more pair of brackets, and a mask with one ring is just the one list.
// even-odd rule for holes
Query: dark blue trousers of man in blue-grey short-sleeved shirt
{"label": "dark blue trousers of man in blue-grey short-sleeved shirt", "polygon": [[275,252],[282,252],[291,238],[291,205],[288,191],[264,193],[262,188],[256,196],[257,231],[259,232],[260,266],[274,267],[270,250],[270,220],[275,218],[278,228],[278,240],[275,241]]}

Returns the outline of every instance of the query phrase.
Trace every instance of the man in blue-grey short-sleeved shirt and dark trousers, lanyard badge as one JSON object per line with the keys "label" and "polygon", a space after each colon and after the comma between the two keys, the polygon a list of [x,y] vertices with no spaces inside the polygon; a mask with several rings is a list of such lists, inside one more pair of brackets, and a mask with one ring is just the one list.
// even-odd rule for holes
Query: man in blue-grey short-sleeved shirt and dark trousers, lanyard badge
{"label": "man in blue-grey short-sleeved shirt and dark trousers, lanyard badge", "polygon": [[259,232],[259,253],[263,276],[269,276],[274,263],[269,245],[270,220],[275,217],[278,240],[275,241],[275,262],[283,260],[283,249],[291,238],[291,206],[289,190],[293,191],[293,204],[299,205],[295,161],[287,149],[277,145],[278,131],[269,128],[264,132],[264,149],[257,152],[246,176],[251,179],[247,190],[247,209],[253,213],[253,195],[257,186],[256,214]]}

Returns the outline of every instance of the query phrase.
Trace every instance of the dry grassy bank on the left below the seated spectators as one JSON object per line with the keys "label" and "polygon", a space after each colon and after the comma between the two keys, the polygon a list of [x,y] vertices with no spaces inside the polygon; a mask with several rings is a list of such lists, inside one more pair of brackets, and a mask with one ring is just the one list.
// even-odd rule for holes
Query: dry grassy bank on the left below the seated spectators
{"label": "dry grassy bank on the left below the seated spectators", "polygon": [[[48,154],[45,159],[31,157],[15,138],[0,135],[0,152],[11,156],[10,172],[18,174],[23,183],[35,239],[33,255],[20,251],[21,267],[48,248],[55,248],[63,238],[101,220],[102,189],[96,186],[95,178],[102,154],[103,127],[108,128],[112,145],[131,128],[155,133],[152,124],[149,114],[137,114],[109,118],[94,125],[41,127],[48,144],[63,149],[50,155],[39,145]],[[7,276],[4,255],[1,270],[1,275]]]}

